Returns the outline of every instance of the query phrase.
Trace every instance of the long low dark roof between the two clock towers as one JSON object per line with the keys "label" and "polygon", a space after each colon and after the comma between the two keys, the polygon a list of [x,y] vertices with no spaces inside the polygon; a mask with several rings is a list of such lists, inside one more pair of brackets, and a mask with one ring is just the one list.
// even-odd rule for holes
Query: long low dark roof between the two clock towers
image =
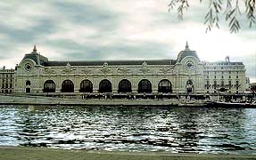
{"label": "long low dark roof between the two clock towers", "polygon": [[142,65],[146,62],[147,65],[174,65],[176,60],[92,60],[92,61],[45,61],[45,67],[66,66],[103,66],[107,63],[109,66],[121,65]]}

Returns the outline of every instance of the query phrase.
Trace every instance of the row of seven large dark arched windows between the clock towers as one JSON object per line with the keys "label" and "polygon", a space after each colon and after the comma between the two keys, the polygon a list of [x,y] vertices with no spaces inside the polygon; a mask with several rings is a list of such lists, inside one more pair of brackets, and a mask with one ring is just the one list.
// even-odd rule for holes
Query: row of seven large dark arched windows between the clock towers
{"label": "row of seven large dark arched windows between the clock towers", "polygon": [[[56,85],[53,80],[47,80],[44,84],[44,92],[55,92]],[[74,92],[74,84],[70,80],[62,82],[61,92]],[[90,80],[83,80],[79,92],[93,92],[93,84]],[[109,80],[103,79],[99,84],[99,92],[112,92],[112,84]],[[118,92],[132,92],[131,83],[123,79],[119,83]],[[143,79],[138,83],[137,92],[152,92],[152,84],[149,80]],[[168,79],[163,79],[158,84],[158,92],[172,92],[172,85]]]}

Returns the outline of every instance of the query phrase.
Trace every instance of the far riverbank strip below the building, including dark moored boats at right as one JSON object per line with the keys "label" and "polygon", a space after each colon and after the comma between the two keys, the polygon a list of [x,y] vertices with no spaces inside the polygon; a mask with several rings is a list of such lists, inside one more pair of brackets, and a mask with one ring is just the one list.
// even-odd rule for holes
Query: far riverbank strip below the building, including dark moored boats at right
{"label": "far riverbank strip below the building, including dark moored boats at right", "polygon": [[250,103],[223,103],[216,100],[188,99],[68,99],[31,95],[0,95],[0,105],[29,106],[83,106],[83,107],[204,107],[204,108],[256,108]]}

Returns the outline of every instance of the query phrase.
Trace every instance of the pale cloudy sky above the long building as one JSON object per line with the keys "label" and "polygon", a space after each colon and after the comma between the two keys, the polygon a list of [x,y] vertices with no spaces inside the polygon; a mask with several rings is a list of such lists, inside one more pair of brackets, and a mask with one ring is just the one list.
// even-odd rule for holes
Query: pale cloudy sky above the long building
{"label": "pale cloudy sky above the long building", "polygon": [[201,60],[243,61],[256,82],[256,27],[243,13],[239,33],[225,20],[206,33],[207,4],[191,1],[178,20],[169,1],[1,0],[0,68],[14,68],[34,44],[49,60],[161,60],[177,59],[187,41]]}

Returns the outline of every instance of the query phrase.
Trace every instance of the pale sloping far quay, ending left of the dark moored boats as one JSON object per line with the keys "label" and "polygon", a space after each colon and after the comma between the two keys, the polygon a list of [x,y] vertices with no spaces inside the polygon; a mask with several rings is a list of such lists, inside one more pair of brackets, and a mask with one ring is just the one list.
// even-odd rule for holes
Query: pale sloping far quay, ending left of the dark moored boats
{"label": "pale sloping far quay, ending left of the dark moored boats", "polygon": [[117,106],[117,107],[175,107],[203,106],[206,100],[73,100],[39,96],[0,95],[0,105],[44,105],[44,106]]}

